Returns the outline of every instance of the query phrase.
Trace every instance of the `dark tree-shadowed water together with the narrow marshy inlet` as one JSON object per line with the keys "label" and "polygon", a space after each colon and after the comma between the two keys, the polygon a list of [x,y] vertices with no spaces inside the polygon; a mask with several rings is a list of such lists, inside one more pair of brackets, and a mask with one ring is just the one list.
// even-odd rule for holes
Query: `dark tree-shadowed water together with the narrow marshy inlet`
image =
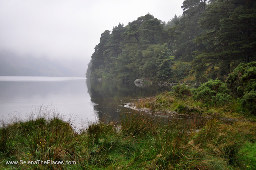
{"label": "dark tree-shadowed water together with the narrow marshy inlet", "polygon": [[[108,115],[109,120],[118,120],[120,112],[132,112],[132,107],[126,107],[127,103],[134,102],[134,99],[156,96],[164,91],[170,90],[170,86],[146,85],[136,86],[133,83],[116,83],[110,81],[86,80],[88,93],[91,101],[95,103],[94,110],[98,112],[98,118],[102,120]],[[183,123],[200,124],[201,117],[184,116],[177,114],[164,114],[151,112],[150,110],[139,110],[150,117],[168,122],[180,119]]]}

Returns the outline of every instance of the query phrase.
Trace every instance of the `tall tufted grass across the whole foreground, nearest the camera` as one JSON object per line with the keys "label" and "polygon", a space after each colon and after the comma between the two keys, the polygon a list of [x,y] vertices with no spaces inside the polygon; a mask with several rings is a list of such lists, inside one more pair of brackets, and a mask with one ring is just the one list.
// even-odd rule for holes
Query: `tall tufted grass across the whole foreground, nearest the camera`
{"label": "tall tufted grass across the whole foreground, nearest the camera", "polygon": [[[119,124],[92,122],[79,131],[58,115],[1,125],[0,169],[253,170],[256,167],[256,125],[248,121],[222,124],[209,119],[198,128],[178,120],[162,125],[143,114],[132,113],[122,114]],[[20,160],[76,164],[6,164]]]}

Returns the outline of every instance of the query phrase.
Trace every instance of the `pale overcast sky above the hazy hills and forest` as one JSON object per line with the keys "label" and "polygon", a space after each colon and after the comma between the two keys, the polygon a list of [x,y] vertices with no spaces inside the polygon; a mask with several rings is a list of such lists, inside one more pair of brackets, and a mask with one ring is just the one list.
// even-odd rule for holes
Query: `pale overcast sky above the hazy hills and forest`
{"label": "pale overcast sky above the hazy hills and forest", "polygon": [[89,62],[104,30],[149,12],[182,14],[183,0],[0,0],[0,51]]}

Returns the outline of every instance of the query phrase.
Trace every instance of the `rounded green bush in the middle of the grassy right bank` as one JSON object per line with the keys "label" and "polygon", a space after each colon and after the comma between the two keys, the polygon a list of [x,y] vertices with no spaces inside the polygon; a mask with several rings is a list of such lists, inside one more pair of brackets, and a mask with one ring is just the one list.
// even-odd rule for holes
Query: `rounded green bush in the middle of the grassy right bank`
{"label": "rounded green bush in the middle of the grassy right bank", "polygon": [[221,105],[232,99],[226,84],[218,79],[208,80],[208,82],[201,84],[197,89],[193,90],[193,92],[194,100],[201,100],[209,105]]}

